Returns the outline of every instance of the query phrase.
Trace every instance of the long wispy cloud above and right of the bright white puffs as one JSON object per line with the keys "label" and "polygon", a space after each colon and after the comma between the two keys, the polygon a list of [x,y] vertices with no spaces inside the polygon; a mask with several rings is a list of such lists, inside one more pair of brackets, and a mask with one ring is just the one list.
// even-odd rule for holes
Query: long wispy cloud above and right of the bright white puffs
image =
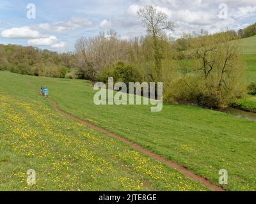
{"label": "long wispy cloud above and right of the bright white puffs", "polygon": [[58,33],[61,33],[65,31],[76,30],[81,27],[89,27],[92,24],[93,22],[86,18],[71,18],[71,20],[53,22],[52,24],[39,24],[38,29],[42,29],[44,31],[56,31]]}

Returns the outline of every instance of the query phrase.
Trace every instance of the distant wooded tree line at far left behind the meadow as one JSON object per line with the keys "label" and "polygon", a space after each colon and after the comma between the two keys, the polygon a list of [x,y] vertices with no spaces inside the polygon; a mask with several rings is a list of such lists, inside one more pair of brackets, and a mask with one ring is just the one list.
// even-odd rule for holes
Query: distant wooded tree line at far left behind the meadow
{"label": "distant wooded tree line at far left behind the meadow", "polygon": [[65,78],[74,68],[74,53],[58,54],[20,45],[0,45],[0,70],[22,75]]}

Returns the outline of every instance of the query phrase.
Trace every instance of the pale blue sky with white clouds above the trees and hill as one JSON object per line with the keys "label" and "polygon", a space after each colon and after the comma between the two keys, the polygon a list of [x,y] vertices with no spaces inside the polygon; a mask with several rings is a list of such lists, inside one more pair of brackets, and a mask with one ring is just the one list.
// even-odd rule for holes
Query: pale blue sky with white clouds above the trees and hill
{"label": "pale blue sky with white clouds above the trees and hill", "polygon": [[0,43],[67,52],[74,50],[77,38],[99,31],[115,29],[120,38],[140,36],[145,29],[136,11],[145,5],[168,15],[175,23],[168,34],[175,38],[256,22],[256,0],[0,0]]}

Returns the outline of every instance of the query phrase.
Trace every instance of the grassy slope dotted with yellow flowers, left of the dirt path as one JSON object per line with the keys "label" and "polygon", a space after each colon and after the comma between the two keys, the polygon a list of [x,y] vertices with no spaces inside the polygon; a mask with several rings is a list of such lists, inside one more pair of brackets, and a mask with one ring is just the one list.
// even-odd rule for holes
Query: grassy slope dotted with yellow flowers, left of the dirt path
{"label": "grassy slope dotted with yellow flowers, left of the dirt path", "polygon": [[[0,191],[207,190],[55,112],[33,85],[44,80],[0,72]],[[26,183],[29,169],[36,171],[34,186]]]}

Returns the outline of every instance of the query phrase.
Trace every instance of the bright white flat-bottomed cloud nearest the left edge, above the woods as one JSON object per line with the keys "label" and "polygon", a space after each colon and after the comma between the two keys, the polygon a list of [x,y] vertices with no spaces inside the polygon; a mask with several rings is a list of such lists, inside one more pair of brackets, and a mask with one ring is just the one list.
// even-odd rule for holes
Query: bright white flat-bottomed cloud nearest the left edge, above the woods
{"label": "bright white flat-bottomed cloud nearest the left edge, above the woods", "polygon": [[13,27],[11,29],[6,29],[1,32],[3,38],[39,38],[40,33],[38,31],[32,30],[30,27]]}

